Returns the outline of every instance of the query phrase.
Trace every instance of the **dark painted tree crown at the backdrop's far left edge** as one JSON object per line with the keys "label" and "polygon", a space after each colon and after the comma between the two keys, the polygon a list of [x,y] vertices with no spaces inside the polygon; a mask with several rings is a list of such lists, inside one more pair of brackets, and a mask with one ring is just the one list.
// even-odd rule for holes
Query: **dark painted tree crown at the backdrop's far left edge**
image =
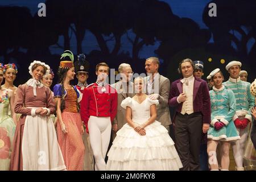
{"label": "dark painted tree crown at the backdrop's far left edge", "polygon": [[0,55],[8,63],[10,57],[16,59],[20,55],[20,48],[28,48],[32,16],[27,7],[0,6],[0,21]]}

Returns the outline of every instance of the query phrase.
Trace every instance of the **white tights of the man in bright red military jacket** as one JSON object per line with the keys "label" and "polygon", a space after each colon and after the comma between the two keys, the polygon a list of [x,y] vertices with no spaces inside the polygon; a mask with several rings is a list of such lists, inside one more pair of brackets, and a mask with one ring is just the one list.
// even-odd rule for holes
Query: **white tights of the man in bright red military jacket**
{"label": "white tights of the man in bright red military jacket", "polygon": [[96,171],[106,171],[105,157],[109,147],[111,127],[110,117],[95,117],[91,115],[89,118],[88,130]]}

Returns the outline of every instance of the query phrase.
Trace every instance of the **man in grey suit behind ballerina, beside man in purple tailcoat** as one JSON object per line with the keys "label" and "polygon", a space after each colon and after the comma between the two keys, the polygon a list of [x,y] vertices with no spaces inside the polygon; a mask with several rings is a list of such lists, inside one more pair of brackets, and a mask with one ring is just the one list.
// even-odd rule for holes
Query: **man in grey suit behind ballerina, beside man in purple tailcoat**
{"label": "man in grey suit behind ballerina, beside man in purple tailcoat", "polygon": [[168,98],[170,92],[170,80],[158,73],[159,69],[158,57],[148,57],[145,62],[147,72],[147,94],[151,100],[159,100],[159,105],[156,106],[157,118],[170,134],[171,116],[168,106]]}

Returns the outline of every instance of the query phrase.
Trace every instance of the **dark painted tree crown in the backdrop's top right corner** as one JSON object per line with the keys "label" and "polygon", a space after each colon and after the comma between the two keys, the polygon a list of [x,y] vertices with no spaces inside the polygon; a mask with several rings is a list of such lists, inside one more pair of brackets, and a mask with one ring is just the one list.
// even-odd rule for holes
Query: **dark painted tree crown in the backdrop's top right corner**
{"label": "dark painted tree crown in the backdrop's top right corner", "polygon": [[[207,5],[203,20],[213,34],[213,48],[222,53],[236,54],[247,63],[253,58],[255,60],[256,2],[253,0],[212,2],[217,5],[217,17],[208,15]],[[251,48],[248,47],[249,41]]]}

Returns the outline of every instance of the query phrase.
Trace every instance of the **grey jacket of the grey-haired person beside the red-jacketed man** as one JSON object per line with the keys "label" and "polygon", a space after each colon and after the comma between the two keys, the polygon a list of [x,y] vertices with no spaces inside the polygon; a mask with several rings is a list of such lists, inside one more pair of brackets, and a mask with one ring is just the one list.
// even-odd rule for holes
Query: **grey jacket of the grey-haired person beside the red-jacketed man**
{"label": "grey jacket of the grey-haired person beside the red-jacketed man", "polygon": [[122,88],[122,81],[118,81],[115,84],[111,85],[115,90],[117,90],[117,115],[115,115],[113,124],[117,123],[118,126],[118,130],[121,129],[121,127],[123,125],[125,125],[125,123],[127,123],[126,121],[126,109],[123,109],[123,107],[121,107],[121,103],[123,100],[125,100],[125,98],[128,97],[133,97],[135,94],[133,92],[133,82],[131,82],[131,84],[129,85],[129,92],[126,95],[126,92],[123,90]]}

